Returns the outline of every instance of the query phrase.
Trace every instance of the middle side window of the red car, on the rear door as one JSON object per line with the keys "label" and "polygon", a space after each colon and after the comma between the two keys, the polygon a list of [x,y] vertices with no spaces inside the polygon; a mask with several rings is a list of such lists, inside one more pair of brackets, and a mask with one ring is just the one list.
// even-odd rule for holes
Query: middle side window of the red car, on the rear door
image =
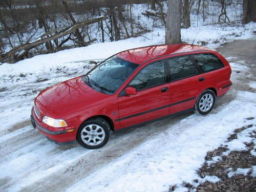
{"label": "middle side window of the red car, on the rear door", "polygon": [[197,68],[188,56],[169,58],[167,60],[171,81],[197,74]]}

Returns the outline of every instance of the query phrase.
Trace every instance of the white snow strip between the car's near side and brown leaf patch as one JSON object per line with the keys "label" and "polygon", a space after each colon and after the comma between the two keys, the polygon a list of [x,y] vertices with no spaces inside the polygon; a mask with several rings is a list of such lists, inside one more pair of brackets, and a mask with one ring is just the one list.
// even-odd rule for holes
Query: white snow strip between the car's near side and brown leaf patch
{"label": "white snow strip between the car's near side and brown leaf patch", "polygon": [[166,191],[169,185],[192,183],[199,179],[196,170],[207,151],[220,146],[229,133],[243,126],[246,117],[255,115],[254,98],[254,94],[245,92],[221,106],[218,113],[216,109],[207,116],[190,115],[67,191]]}

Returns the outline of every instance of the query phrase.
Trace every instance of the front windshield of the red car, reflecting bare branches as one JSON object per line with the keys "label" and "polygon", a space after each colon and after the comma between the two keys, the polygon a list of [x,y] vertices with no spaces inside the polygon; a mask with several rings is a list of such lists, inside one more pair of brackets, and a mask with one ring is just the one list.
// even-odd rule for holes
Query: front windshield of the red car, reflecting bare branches
{"label": "front windshield of the red car, reflecting bare branches", "polygon": [[83,76],[83,81],[102,93],[113,94],[138,67],[137,64],[113,56]]}

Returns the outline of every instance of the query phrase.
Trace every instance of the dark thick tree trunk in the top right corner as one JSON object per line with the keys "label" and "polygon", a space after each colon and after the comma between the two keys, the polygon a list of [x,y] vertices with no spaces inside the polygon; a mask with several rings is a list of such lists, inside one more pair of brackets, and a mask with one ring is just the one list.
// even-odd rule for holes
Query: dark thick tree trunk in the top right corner
{"label": "dark thick tree trunk in the top right corner", "polygon": [[243,24],[256,22],[256,1],[243,0]]}

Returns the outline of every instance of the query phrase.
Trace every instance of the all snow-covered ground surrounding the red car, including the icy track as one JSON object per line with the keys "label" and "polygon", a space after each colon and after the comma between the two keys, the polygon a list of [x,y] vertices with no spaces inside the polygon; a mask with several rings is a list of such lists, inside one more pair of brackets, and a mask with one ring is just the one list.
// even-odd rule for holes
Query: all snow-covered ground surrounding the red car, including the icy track
{"label": "all snow-covered ground surrounding the red car, including the icy track", "polygon": [[[217,48],[220,43],[235,39],[254,38],[255,41],[252,35],[255,28],[255,23],[245,27],[191,27],[182,30],[182,39],[192,42],[200,30],[195,42],[206,41],[208,47]],[[30,124],[33,98],[42,89],[86,73],[94,66],[91,60],[100,61],[130,48],[162,44],[163,40],[164,30],[158,29],[143,37],[93,44],[0,65],[1,189],[167,191],[170,185],[177,185],[177,191],[185,191],[184,181],[218,181],[216,177],[202,179],[197,175],[206,153],[225,143],[233,130],[247,125],[246,118],[256,116],[255,92],[239,88],[241,77],[254,77],[247,63],[236,58],[237,55],[227,58],[233,69],[233,89],[222,98],[226,102],[217,101],[221,104],[207,116],[189,113],[115,134],[106,146],[93,151],[79,145],[52,144]],[[255,78],[248,84],[255,89]],[[255,125],[256,120],[250,123]],[[230,144],[230,149],[245,147],[245,138],[255,143],[255,139],[244,133],[237,143]]]}

